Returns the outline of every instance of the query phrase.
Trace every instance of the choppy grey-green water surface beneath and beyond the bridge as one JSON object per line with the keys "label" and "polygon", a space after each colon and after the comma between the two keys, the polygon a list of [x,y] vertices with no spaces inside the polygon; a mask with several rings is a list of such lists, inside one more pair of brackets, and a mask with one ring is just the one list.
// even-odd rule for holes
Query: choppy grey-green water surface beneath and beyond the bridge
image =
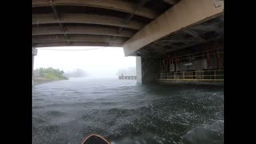
{"label": "choppy grey-green water surface beneath and beyond the bridge", "polygon": [[224,143],[223,86],[74,78],[34,86],[32,111],[34,144]]}

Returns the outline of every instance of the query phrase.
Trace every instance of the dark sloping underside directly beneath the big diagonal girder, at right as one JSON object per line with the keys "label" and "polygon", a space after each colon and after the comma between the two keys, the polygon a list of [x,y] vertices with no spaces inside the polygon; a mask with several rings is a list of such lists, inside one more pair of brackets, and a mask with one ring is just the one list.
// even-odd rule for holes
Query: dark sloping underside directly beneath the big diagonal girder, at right
{"label": "dark sloping underside directly beneath the big diagonal girder, at right", "polygon": [[145,58],[162,58],[167,53],[182,50],[191,46],[224,38],[224,16],[178,30],[164,38],[151,42],[149,45],[130,54]]}

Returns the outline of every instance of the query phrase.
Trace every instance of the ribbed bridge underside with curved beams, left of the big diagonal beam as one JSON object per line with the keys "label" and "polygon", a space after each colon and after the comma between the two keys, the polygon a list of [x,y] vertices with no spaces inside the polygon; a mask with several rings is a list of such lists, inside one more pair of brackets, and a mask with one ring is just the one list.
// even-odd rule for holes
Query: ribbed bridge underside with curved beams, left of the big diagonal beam
{"label": "ribbed bridge underside with curved beams, left of the big diagonal beam", "polygon": [[33,0],[32,46],[122,46],[179,0]]}

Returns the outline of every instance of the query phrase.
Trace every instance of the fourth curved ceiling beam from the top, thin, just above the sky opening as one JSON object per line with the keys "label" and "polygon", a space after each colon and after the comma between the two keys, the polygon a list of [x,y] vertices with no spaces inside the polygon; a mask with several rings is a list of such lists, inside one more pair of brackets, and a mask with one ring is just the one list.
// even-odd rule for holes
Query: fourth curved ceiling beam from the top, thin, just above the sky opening
{"label": "fourth curved ceiling beam from the top, thin, just above the sky opening", "polygon": [[[114,42],[122,44],[128,38],[114,38],[111,36],[102,35],[68,35],[70,42]],[[66,42],[64,35],[41,35],[32,37],[32,43],[42,42]]]}

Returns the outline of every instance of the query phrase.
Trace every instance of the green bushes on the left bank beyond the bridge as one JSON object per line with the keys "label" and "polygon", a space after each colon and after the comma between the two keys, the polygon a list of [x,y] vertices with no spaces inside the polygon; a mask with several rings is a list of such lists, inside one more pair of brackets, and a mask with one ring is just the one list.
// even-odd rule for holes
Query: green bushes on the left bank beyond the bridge
{"label": "green bushes on the left bank beyond the bridge", "polygon": [[52,67],[34,70],[34,78],[45,78],[48,80],[68,79],[63,74],[63,70],[54,69]]}

